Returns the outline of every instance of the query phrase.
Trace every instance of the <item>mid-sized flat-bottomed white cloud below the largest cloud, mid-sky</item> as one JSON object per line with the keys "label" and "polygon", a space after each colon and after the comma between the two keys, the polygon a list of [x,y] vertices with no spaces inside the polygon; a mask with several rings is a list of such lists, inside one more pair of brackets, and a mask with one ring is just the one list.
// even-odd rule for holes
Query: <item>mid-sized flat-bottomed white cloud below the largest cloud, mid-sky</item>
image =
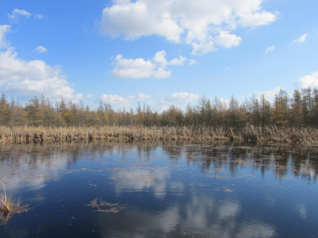
{"label": "mid-sized flat-bottomed white cloud below the largest cloud, mid-sky", "polygon": [[121,54],[116,55],[114,58],[116,61],[115,68],[110,71],[110,74],[116,78],[168,78],[172,74],[172,70],[166,70],[168,65],[183,65],[187,60],[185,57],[168,61],[166,59],[165,51],[158,51],[151,60],[144,60],[142,58],[137,59],[125,59]]}

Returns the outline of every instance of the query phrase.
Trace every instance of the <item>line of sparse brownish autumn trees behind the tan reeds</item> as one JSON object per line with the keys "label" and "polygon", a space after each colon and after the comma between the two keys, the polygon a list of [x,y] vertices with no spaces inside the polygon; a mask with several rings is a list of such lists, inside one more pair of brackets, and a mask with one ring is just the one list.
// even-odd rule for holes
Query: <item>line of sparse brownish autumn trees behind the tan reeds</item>
{"label": "line of sparse brownish autumn trees behind the tan reeds", "polygon": [[52,103],[41,95],[30,99],[24,106],[11,97],[7,100],[2,92],[0,98],[0,124],[5,126],[99,126],[99,125],[187,125],[187,126],[224,126],[241,127],[250,123],[257,126],[269,124],[286,126],[318,125],[318,90],[316,88],[295,89],[293,94],[280,89],[273,103],[261,95],[252,94],[244,101],[232,95],[229,103],[217,96],[211,101],[204,94],[196,105],[187,104],[186,108],[170,105],[157,113],[149,105],[119,108],[114,110],[110,104],[99,102],[97,110],[91,110],[83,101],[74,103],[62,96]]}

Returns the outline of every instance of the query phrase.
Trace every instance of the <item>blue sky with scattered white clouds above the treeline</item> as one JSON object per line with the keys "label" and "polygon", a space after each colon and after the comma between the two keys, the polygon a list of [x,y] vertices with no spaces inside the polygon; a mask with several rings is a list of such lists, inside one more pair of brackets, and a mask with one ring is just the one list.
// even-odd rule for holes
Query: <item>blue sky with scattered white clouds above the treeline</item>
{"label": "blue sky with scattered white clouds above the treeline", "polygon": [[2,0],[0,90],[185,109],[318,88],[317,0]]}

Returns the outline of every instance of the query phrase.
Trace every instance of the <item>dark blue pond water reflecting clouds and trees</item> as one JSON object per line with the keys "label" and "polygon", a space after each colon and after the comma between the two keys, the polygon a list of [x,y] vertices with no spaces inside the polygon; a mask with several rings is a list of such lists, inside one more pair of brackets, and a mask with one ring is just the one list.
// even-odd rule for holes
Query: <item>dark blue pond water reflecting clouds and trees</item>
{"label": "dark blue pond water reflecting clouds and trees", "polygon": [[30,208],[1,213],[0,237],[318,237],[317,162],[290,144],[0,144]]}

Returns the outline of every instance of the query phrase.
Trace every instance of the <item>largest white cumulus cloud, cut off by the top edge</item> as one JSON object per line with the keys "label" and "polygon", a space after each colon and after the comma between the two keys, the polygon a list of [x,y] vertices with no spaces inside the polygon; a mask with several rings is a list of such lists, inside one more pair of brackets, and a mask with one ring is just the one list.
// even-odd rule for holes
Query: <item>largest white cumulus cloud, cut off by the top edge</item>
{"label": "largest white cumulus cloud, cut off by the top edge", "polygon": [[192,54],[238,46],[238,26],[258,27],[276,21],[279,13],[261,8],[262,0],[114,1],[102,11],[100,33],[126,40],[159,35],[193,47]]}

